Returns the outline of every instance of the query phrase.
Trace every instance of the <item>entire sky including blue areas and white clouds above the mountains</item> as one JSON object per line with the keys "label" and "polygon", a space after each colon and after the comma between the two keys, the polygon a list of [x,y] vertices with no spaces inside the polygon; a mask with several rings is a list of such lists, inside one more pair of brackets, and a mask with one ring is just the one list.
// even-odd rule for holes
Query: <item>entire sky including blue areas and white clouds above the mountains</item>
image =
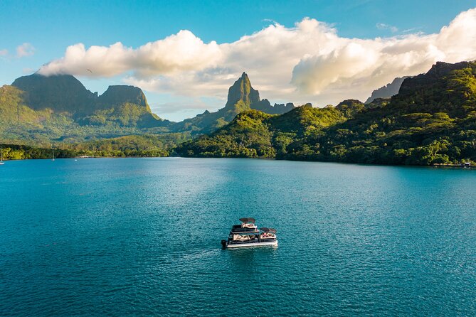
{"label": "entire sky including blue areas and white clouds above the mountains", "polygon": [[[0,85],[75,75],[136,85],[180,121],[224,106],[247,72],[261,98],[314,107],[438,60],[476,60],[476,1],[0,1]],[[91,71],[89,71],[91,70]]]}

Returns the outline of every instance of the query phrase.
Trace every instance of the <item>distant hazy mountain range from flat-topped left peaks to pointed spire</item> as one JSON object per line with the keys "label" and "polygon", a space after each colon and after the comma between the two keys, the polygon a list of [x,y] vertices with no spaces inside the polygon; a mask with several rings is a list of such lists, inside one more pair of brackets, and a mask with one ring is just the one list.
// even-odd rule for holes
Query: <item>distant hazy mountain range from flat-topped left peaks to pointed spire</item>
{"label": "distant hazy mountain range from flat-topped left peaks to pointed spire", "polygon": [[6,143],[47,146],[131,134],[203,134],[248,109],[280,114],[292,108],[290,103],[271,106],[268,100],[260,100],[243,72],[230,87],[225,107],[183,122],[169,122],[152,113],[138,87],[115,85],[98,95],[72,75],[33,74],[1,87],[0,136]]}

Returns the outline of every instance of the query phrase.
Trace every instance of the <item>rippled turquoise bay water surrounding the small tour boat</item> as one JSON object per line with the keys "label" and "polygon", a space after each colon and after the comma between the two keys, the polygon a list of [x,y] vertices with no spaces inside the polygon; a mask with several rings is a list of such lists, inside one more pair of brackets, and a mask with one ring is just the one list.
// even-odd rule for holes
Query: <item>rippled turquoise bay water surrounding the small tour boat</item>
{"label": "rippled turquoise bay water surrounding the small tour boat", "polygon": [[[476,170],[8,161],[0,315],[476,314]],[[222,250],[239,217],[279,247]]]}

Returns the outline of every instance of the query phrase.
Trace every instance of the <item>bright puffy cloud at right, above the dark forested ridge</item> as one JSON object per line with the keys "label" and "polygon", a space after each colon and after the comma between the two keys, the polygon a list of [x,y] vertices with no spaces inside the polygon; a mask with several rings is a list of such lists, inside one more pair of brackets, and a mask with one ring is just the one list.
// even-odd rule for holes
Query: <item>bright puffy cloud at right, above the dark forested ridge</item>
{"label": "bright puffy cloud at right, above the dark forested ridge", "polygon": [[[305,93],[364,99],[394,77],[426,72],[433,63],[476,59],[476,9],[459,14],[439,33],[360,40],[339,38],[325,46],[332,53],[305,55],[293,69],[292,82]],[[334,101],[335,102],[335,101]]]}

